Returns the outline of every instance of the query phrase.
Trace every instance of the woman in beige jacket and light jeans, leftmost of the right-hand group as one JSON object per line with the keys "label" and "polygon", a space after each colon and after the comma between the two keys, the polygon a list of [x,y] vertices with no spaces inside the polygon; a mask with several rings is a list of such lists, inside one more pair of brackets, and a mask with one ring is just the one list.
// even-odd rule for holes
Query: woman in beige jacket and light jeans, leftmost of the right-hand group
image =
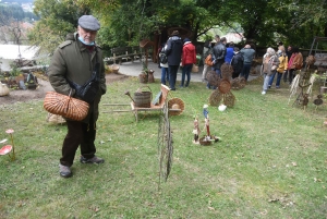
{"label": "woman in beige jacket and light jeans, leftmost of the right-hand group", "polygon": [[278,65],[279,60],[276,56],[276,52],[271,47],[269,47],[263,59],[262,73],[264,73],[264,86],[262,95],[266,94],[270,77],[274,73],[276,73]]}

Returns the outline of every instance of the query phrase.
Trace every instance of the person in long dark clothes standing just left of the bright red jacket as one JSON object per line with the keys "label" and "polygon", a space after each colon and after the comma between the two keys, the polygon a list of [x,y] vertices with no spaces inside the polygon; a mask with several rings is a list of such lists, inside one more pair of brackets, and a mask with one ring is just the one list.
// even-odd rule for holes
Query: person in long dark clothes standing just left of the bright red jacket
{"label": "person in long dark clothes standing just left of the bright red jacket", "polygon": [[171,37],[167,40],[166,54],[168,57],[169,86],[171,90],[175,90],[177,73],[180,68],[183,51],[183,41],[179,35],[180,33],[178,31],[173,31]]}

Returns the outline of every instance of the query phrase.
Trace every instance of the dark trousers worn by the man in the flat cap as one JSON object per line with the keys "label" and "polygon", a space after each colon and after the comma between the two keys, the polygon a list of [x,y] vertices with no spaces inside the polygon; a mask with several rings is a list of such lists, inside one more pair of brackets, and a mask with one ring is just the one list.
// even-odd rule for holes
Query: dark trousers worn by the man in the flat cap
{"label": "dark trousers worn by the man in the flat cap", "polygon": [[93,119],[89,120],[89,124],[68,120],[66,126],[68,133],[63,139],[60,163],[71,167],[80,145],[81,155],[85,158],[93,158],[96,153],[94,144],[96,137],[96,124]]}

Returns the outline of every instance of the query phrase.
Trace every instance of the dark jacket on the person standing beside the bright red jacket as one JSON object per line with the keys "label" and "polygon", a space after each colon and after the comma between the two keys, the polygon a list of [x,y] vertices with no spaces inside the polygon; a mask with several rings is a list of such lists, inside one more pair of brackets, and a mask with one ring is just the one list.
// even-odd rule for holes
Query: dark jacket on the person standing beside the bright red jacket
{"label": "dark jacket on the person standing beside the bright red jacket", "polygon": [[183,41],[179,36],[169,37],[167,41],[166,54],[168,65],[180,65],[183,51]]}

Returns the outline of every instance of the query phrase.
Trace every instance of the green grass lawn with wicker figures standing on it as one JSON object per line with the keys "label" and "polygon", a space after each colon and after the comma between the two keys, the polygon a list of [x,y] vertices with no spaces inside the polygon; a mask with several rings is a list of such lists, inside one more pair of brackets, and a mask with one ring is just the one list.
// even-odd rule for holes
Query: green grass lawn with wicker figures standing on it
{"label": "green grass lawn with wicker figures standing on it", "polygon": [[[136,78],[114,82],[101,104],[128,104]],[[148,84],[154,96],[159,82]],[[171,117],[173,163],[158,190],[158,113],[109,112],[100,106],[97,156],[59,175],[65,125],[46,121],[43,100],[0,106],[0,139],[13,129],[16,160],[0,157],[0,218],[327,218],[326,105],[291,107],[286,84],[261,94],[262,82],[232,90],[235,106],[209,107],[211,146],[192,143],[193,117],[204,131],[203,83],[171,92],[185,110]],[[316,97],[318,88],[314,89]],[[1,99],[0,99],[1,101]]]}

